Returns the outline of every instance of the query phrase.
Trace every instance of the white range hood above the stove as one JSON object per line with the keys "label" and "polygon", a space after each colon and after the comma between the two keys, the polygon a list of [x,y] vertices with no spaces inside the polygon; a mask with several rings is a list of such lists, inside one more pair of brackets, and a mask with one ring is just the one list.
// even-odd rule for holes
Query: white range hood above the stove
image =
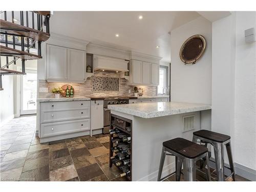
{"label": "white range hood above the stove", "polygon": [[110,58],[104,56],[95,56],[93,62],[94,71],[96,70],[105,70],[105,71],[118,71],[118,72],[126,72],[129,71],[127,69],[127,63],[129,61],[125,61],[124,59]]}

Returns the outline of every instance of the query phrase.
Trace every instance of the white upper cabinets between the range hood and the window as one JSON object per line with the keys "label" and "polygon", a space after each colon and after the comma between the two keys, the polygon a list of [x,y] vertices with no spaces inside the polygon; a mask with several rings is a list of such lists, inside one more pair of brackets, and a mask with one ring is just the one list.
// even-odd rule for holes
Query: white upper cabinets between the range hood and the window
{"label": "white upper cabinets between the range hood and the window", "polygon": [[132,85],[158,86],[159,65],[156,63],[131,60],[130,80]]}

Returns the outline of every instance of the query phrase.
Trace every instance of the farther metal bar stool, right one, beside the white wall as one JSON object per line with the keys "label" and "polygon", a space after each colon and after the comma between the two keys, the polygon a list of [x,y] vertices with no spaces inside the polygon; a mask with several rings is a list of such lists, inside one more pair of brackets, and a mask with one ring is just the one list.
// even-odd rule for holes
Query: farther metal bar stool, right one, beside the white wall
{"label": "farther metal bar stool, right one, beside the white wall", "polygon": [[[233,181],[235,181],[230,136],[216,132],[211,132],[208,130],[200,130],[193,133],[193,142],[197,143],[198,140],[199,142],[204,143],[205,146],[207,146],[208,143],[214,146],[215,164],[218,181],[226,181],[231,176]],[[224,166],[224,146],[226,146],[228,162],[230,167]],[[231,171],[231,174],[227,178],[225,178],[224,175],[224,167],[228,168]]]}

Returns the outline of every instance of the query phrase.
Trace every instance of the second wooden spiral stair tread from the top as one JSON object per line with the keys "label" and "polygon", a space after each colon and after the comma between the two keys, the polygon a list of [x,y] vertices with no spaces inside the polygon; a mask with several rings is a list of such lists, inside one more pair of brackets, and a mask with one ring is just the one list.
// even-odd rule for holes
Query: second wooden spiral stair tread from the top
{"label": "second wooden spiral stair tread from the top", "polygon": [[5,46],[0,46],[0,55],[2,56],[15,56],[19,57],[21,59],[26,59],[26,60],[34,60],[34,59],[40,59],[42,58],[41,56],[31,54],[25,51],[20,51],[17,49],[12,49],[10,47],[5,47]]}

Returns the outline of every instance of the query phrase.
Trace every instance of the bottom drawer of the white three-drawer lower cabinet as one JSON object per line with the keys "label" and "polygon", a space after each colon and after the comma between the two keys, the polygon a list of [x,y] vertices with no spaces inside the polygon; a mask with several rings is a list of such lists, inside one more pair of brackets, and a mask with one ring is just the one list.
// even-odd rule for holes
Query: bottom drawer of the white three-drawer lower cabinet
{"label": "bottom drawer of the white three-drawer lower cabinet", "polygon": [[51,137],[90,130],[90,119],[45,123],[40,125],[40,137]]}

